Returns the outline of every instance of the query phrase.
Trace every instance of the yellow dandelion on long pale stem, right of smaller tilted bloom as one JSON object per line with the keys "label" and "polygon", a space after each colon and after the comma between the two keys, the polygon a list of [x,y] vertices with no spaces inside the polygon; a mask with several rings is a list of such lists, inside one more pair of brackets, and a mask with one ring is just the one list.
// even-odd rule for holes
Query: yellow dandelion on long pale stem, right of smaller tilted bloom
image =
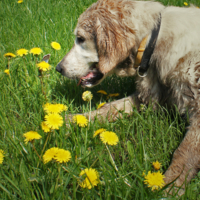
{"label": "yellow dandelion on long pale stem, right of smaller tilted bloom", "polygon": [[116,133],[112,131],[105,131],[100,134],[100,139],[104,144],[116,145],[119,142],[119,138]]}

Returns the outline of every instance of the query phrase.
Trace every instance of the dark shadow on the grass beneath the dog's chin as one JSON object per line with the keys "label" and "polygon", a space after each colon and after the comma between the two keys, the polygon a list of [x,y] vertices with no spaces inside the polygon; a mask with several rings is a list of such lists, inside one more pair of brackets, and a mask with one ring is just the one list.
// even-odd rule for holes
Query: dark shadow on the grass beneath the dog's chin
{"label": "dark shadow on the grass beneath the dog's chin", "polygon": [[101,102],[109,102],[114,98],[107,98],[105,95],[98,94],[98,90],[105,90],[108,94],[119,93],[115,99],[120,99],[132,94],[135,91],[134,77],[118,78],[116,76],[107,77],[101,84],[93,88],[82,88],[77,86],[78,81],[70,80],[66,77],[60,76],[53,88],[52,94],[54,98],[65,99],[67,102],[72,102],[74,106],[80,107],[85,102],[82,100],[82,93],[90,90],[93,94],[92,103],[98,104]]}

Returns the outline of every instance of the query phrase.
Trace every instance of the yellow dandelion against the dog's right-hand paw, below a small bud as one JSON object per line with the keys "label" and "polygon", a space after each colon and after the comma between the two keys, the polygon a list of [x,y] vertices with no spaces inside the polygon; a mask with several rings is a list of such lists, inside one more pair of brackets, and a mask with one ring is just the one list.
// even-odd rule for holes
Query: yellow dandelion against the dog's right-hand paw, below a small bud
{"label": "yellow dandelion against the dog's right-hand paw, below a small bud", "polygon": [[148,185],[148,187],[152,188],[153,190],[158,190],[159,188],[162,188],[165,184],[164,182],[165,176],[158,172],[151,173],[148,171],[148,174],[145,176],[144,183]]}

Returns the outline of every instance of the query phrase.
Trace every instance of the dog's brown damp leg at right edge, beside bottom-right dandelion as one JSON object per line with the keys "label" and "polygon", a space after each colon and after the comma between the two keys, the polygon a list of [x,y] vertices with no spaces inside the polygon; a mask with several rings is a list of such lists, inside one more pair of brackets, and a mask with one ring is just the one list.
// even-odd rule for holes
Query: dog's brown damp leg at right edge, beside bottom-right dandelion
{"label": "dog's brown damp leg at right edge, beside bottom-right dandelion", "polygon": [[[188,183],[200,168],[200,115],[193,117],[185,138],[174,152],[172,163],[165,172],[165,183],[173,182],[181,187],[179,195],[184,193],[185,183]],[[170,188],[171,186],[169,186]],[[168,188],[168,190],[169,190]],[[172,191],[170,192],[172,193]]]}

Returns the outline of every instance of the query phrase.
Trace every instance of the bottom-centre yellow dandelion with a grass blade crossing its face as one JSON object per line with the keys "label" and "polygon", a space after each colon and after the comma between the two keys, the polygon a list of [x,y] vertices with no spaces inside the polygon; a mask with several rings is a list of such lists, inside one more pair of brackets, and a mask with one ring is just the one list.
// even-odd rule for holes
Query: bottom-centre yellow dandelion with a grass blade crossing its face
{"label": "bottom-centre yellow dandelion with a grass blade crossing its face", "polygon": [[99,183],[99,173],[95,169],[86,168],[81,171],[79,176],[82,178],[85,177],[85,179],[80,183],[80,186],[83,188],[91,189]]}

